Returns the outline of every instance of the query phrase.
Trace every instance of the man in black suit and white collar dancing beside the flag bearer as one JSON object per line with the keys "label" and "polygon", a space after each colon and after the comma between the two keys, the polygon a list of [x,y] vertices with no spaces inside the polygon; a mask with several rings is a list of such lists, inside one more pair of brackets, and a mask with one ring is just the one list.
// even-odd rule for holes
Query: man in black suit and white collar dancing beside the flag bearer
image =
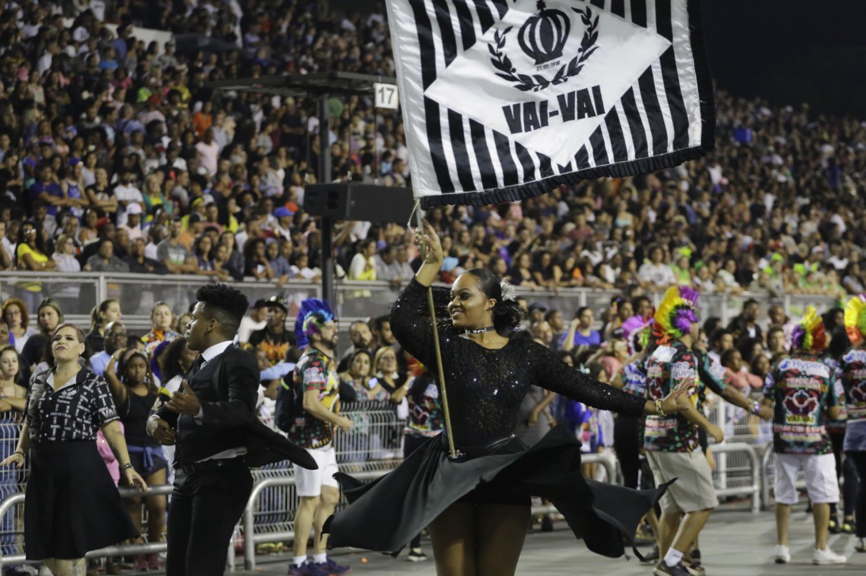
{"label": "man in black suit and white collar dancing beside the flag bearer", "polygon": [[303,449],[262,431],[255,416],[258,363],[232,344],[247,297],[218,284],[202,286],[196,298],[185,337],[189,349],[201,354],[181,389],[147,423],[153,438],[176,445],[167,576],[223,573],[231,534],[253,486],[248,466],[288,458],[315,467]]}

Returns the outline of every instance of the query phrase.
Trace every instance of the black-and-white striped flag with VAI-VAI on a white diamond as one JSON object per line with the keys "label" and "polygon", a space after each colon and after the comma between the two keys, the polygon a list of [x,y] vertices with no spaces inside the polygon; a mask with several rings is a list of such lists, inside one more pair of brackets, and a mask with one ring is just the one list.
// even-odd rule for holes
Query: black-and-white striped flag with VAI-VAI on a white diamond
{"label": "black-and-white striped flag with VAI-VAI on a white diamond", "polygon": [[515,201],[713,147],[698,0],[387,0],[415,195]]}

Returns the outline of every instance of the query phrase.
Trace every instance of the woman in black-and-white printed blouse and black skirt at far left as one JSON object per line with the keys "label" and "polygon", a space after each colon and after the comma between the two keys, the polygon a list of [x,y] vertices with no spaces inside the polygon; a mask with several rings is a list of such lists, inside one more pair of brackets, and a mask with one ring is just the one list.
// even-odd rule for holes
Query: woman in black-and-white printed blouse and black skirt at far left
{"label": "woman in black-and-white printed blouse and black skirt at far left", "polygon": [[33,381],[18,448],[0,465],[24,464],[33,448],[24,499],[27,560],[56,576],[84,572],[84,555],[138,535],[96,448],[102,430],[126,482],[147,484],[129,462],[108,385],[79,362],[84,333],[63,323],[51,340],[55,365]]}

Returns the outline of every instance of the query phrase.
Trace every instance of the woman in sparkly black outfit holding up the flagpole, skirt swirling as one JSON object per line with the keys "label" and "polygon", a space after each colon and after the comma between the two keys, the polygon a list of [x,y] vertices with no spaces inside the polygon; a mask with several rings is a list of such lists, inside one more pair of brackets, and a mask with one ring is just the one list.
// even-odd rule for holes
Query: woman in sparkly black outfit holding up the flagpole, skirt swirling
{"label": "woman in sparkly black outfit holding up the flagpole, skirt swirling", "polygon": [[[391,328],[411,355],[435,366],[430,318],[422,310],[443,254],[430,224],[421,240],[423,266],[391,310]],[[446,291],[435,292],[443,303]],[[633,537],[663,488],[648,495],[585,481],[579,444],[560,428],[527,449],[512,433],[520,402],[535,384],[601,409],[668,413],[685,407],[678,398],[686,387],[647,403],[591,381],[536,342],[503,336],[520,323],[520,309],[486,270],[462,274],[450,292],[440,344],[453,439],[464,456],[450,459],[440,434],[372,483],[338,474],[352,505],[330,521],[331,544],[393,551],[430,525],[437,573],[463,574],[469,565],[507,576],[517,566],[536,495],[553,502],[592,551],[621,556],[623,538]]]}

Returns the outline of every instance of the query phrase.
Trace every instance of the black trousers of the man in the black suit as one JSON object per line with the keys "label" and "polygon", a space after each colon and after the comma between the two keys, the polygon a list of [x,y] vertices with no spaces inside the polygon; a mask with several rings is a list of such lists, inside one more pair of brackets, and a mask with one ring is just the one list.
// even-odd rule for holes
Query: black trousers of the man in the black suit
{"label": "black trousers of the man in the black suit", "polygon": [[168,515],[166,576],[221,576],[252,490],[253,477],[242,463],[190,475],[178,470]]}

